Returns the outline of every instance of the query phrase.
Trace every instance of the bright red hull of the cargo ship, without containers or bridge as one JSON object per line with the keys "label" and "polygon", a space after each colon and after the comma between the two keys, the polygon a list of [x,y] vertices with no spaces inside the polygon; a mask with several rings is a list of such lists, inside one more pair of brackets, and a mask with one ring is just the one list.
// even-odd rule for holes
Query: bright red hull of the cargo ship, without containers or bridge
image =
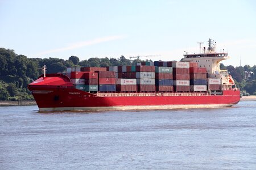
{"label": "bright red hull of the cargo ship, without containers or bridge", "polygon": [[[57,80],[57,82],[54,81]],[[62,79],[62,82],[61,82]],[[57,84],[56,84],[57,83]],[[40,111],[55,110],[112,110],[148,108],[189,108],[209,105],[231,106],[240,101],[240,91],[223,91],[222,95],[207,93],[105,93],[90,94],[73,88],[69,78],[64,75],[42,77],[28,86]],[[105,95],[105,96],[104,96]],[[146,107],[147,106],[147,107]],[[152,106],[152,107],[151,107]],[[168,107],[163,107],[168,106]]]}

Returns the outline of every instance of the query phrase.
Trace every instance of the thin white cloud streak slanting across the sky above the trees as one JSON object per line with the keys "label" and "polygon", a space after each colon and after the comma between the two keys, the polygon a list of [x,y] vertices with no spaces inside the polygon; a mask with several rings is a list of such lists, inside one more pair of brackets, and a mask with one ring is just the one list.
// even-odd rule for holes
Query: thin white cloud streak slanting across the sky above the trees
{"label": "thin white cloud streak slanting across the sky above the trees", "polygon": [[63,48],[57,48],[57,49],[52,49],[52,50],[47,50],[47,51],[41,52],[39,54],[36,54],[36,56],[42,56],[44,54],[49,54],[49,53],[63,52],[66,50],[72,50],[72,49],[77,49],[77,48],[81,48],[84,46],[99,44],[101,42],[123,39],[125,37],[126,36],[108,36],[108,37],[101,37],[101,38],[97,38],[97,39],[89,40],[89,41],[76,42],[74,44],[71,44],[71,45],[63,47]]}

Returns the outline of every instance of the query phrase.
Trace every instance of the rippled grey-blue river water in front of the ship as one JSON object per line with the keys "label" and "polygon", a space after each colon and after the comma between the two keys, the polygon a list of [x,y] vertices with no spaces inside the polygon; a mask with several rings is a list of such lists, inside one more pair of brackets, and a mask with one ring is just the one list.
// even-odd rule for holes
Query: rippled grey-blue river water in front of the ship
{"label": "rippled grey-blue river water in front of the ship", "polygon": [[138,112],[0,107],[0,169],[256,169],[256,101]]}

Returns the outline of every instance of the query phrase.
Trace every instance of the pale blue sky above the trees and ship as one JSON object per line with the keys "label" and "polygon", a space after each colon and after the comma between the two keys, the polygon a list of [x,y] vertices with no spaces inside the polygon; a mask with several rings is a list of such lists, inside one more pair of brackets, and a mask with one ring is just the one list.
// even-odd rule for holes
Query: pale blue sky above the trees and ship
{"label": "pale blue sky above the trees and ship", "polygon": [[224,65],[256,65],[256,1],[0,0],[0,47],[29,58],[179,61],[209,39]]}

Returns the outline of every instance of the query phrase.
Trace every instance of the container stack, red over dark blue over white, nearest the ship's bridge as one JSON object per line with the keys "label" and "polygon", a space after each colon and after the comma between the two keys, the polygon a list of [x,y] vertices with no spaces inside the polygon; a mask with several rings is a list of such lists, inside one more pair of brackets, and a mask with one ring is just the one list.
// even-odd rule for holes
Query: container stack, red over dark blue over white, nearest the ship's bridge
{"label": "container stack, red over dark blue over white, nearest the ship's bridge", "polygon": [[195,64],[190,63],[190,90],[207,91],[207,69],[205,67],[193,67]]}

